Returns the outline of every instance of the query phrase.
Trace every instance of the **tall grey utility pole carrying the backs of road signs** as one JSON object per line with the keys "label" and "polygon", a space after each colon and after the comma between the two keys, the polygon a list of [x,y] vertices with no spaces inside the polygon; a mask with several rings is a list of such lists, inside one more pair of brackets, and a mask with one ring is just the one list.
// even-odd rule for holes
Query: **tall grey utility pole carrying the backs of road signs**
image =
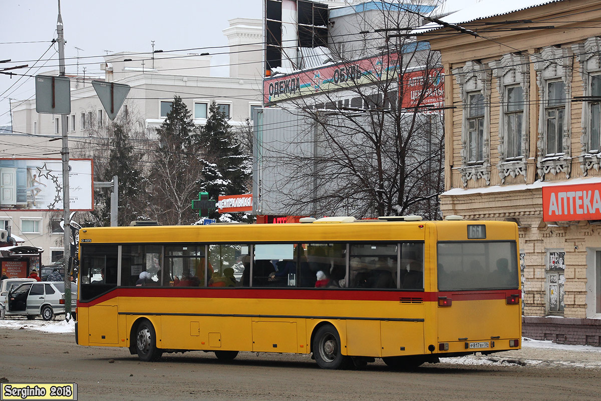
{"label": "tall grey utility pole carrying the backs of road signs", "polygon": [[[56,35],[58,36],[58,75],[65,76],[65,37],[63,30],[63,17],[61,17],[61,0],[58,0],[58,19],[56,20]],[[65,312],[66,320],[71,319],[71,280],[69,278],[69,260],[71,256],[71,227],[69,217],[69,138],[67,137],[67,115],[61,115],[61,128],[63,133],[63,260],[65,263]]]}

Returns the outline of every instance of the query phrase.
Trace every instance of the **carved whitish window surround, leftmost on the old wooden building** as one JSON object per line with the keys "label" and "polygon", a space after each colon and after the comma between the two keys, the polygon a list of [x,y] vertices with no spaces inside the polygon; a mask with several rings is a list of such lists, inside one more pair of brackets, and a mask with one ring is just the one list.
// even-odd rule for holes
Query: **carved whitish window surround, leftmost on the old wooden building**
{"label": "carved whitish window surround, leftmost on the old wooden building", "polygon": [[[468,181],[473,179],[484,179],[486,185],[490,185],[490,82],[492,72],[490,69],[478,61],[468,61],[465,66],[453,70],[459,92],[463,103],[463,123],[462,123],[462,165],[458,168],[461,173],[463,186],[468,185]],[[468,108],[469,94],[480,92],[484,97],[484,141],[483,155],[484,160],[481,164],[468,164]]]}

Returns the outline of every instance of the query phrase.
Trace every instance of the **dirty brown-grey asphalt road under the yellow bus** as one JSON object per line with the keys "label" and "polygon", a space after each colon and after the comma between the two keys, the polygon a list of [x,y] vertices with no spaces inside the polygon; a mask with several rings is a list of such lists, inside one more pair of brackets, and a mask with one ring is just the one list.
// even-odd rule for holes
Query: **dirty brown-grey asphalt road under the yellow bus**
{"label": "dirty brown-grey asphalt road under the yellow bus", "polygon": [[525,349],[494,354],[510,361],[505,366],[439,363],[391,372],[379,360],[364,370],[329,371],[307,356],[250,352],[232,363],[204,352],[142,363],[127,349],[82,347],[72,334],[25,329],[0,328],[0,344],[1,381],[75,382],[79,400],[600,399],[599,364],[557,364],[598,361],[598,352]]}

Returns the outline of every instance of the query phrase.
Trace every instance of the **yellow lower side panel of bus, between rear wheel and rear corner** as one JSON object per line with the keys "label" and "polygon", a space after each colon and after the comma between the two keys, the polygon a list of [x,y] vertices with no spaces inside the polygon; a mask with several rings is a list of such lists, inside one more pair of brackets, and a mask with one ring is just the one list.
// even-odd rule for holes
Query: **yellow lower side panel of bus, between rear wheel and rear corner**
{"label": "yellow lower side panel of bus, between rear wheel and rear corner", "polygon": [[424,354],[423,322],[380,322],[382,357]]}

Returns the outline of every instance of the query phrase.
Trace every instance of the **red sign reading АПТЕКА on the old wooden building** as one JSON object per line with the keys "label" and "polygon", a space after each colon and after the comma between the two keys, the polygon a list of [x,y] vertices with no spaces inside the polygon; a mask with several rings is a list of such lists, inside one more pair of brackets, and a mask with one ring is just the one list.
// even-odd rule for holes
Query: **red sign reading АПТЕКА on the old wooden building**
{"label": "red sign reading \u0410\u041f\u0422\u0415\u041a\u0410 on the old wooden building", "polygon": [[601,183],[543,186],[543,220],[601,220]]}

